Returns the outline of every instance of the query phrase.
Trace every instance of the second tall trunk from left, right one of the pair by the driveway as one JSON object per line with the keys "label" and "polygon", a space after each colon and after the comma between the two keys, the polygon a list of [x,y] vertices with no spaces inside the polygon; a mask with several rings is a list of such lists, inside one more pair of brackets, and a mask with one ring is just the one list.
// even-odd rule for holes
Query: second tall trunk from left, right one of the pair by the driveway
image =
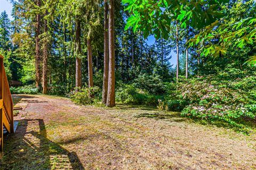
{"label": "second tall trunk from left, right one of the pair by the driveway", "polygon": [[[46,12],[47,15],[47,12]],[[47,19],[44,20],[44,32],[48,32]],[[43,50],[43,94],[47,94],[47,60],[48,60],[48,42],[47,40],[44,42],[44,50]]]}

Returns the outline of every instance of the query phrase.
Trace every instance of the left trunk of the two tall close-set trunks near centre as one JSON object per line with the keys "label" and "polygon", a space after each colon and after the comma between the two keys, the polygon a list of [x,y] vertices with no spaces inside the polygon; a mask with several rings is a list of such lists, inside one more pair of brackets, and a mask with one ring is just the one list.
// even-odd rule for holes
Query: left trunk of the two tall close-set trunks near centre
{"label": "left trunk of the two tall close-set trunks near centre", "polygon": [[108,52],[108,1],[104,0],[104,72],[102,87],[102,104],[107,104],[108,96],[108,69],[109,69],[109,52]]}

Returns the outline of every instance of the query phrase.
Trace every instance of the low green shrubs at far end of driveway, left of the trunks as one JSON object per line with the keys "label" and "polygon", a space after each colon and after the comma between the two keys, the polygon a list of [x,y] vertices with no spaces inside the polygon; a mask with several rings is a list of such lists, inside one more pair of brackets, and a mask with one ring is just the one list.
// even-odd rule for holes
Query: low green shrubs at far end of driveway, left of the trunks
{"label": "low green shrubs at far end of driveway, left of the trunks", "polygon": [[30,94],[36,95],[39,93],[39,90],[33,85],[21,86],[21,87],[10,87],[11,94]]}

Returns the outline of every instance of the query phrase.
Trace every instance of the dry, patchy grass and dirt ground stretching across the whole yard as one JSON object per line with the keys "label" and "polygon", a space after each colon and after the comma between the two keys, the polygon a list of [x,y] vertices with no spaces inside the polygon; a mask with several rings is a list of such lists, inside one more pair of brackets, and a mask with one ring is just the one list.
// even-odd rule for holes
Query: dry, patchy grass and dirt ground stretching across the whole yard
{"label": "dry, patchy grass and dirt ground stretching across the whole yard", "polygon": [[256,169],[256,134],[193,123],[179,113],[77,106],[14,95],[23,107],[0,169]]}

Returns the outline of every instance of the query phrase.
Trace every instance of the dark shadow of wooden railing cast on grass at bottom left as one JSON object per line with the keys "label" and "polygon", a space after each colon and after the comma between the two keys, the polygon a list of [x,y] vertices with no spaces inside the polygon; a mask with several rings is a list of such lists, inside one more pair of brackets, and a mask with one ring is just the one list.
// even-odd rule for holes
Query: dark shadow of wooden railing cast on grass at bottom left
{"label": "dark shadow of wooden railing cast on grass at bottom left", "polygon": [[4,140],[0,169],[84,169],[76,152],[47,139],[42,119],[20,120],[15,134]]}

